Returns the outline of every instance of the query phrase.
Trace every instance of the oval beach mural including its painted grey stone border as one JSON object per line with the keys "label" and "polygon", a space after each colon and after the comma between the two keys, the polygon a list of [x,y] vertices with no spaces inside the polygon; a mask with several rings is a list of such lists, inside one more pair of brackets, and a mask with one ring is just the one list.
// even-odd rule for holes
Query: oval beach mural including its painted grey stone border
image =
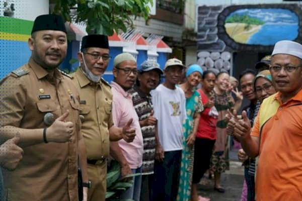
{"label": "oval beach mural including its painted grey stone border", "polygon": [[270,52],[276,42],[302,42],[302,10],[296,4],[225,7],[218,15],[218,37],[233,50]]}

